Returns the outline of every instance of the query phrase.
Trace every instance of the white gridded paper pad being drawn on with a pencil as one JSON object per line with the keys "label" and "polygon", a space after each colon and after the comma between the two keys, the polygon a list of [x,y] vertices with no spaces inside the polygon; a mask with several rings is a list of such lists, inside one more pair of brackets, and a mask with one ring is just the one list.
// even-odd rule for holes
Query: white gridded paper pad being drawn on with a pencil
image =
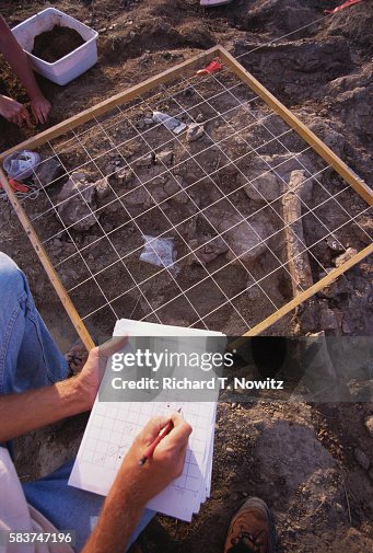
{"label": "white gridded paper pad being drawn on with a pencil", "polygon": [[[179,326],[117,321],[114,336],[223,336],[218,332],[183,329]],[[217,392],[218,398],[218,392]],[[174,398],[173,398],[174,399]],[[190,521],[200,505],[209,497],[215,424],[215,401],[177,402],[167,401],[166,392],[161,401],[152,402],[103,402],[96,398],[84,436],[74,462],[69,485],[107,495],[121,461],[149,418],[167,415],[182,408],[184,418],[194,431],[189,438],[182,476],[151,499],[147,507],[164,515]]]}

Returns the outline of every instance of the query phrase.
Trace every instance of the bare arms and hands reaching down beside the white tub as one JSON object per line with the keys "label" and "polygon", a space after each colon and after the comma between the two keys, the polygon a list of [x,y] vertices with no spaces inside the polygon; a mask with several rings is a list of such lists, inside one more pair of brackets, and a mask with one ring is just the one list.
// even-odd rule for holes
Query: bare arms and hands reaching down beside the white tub
{"label": "bare arms and hands reaching down beside the white tub", "polygon": [[[28,97],[31,100],[31,108],[34,114],[36,122],[46,123],[48,118],[48,114],[50,112],[50,103],[44,96],[40,91],[34,72],[30,67],[27,55],[23,51],[19,43],[16,42],[12,31],[0,15],[0,51],[3,54],[19,79],[22,81]],[[2,96],[0,107],[4,107],[4,103],[8,104],[8,108],[11,108],[10,103],[14,102],[13,100]],[[19,104],[15,102],[19,106]],[[7,107],[7,106],[5,106]],[[28,118],[28,113],[24,106],[23,110],[20,110],[21,119],[14,120],[14,123],[22,123],[22,119]],[[13,104],[13,112],[15,111],[16,105]],[[26,115],[27,114],[27,115]],[[14,116],[14,115],[12,115]]]}

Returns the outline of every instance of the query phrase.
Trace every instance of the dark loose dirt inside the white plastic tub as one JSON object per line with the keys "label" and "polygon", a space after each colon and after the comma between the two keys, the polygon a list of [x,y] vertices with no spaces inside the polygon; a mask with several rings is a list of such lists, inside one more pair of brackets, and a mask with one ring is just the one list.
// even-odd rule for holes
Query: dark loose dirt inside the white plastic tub
{"label": "dark loose dirt inside the white plastic tub", "polygon": [[35,37],[33,55],[53,64],[79,48],[84,42],[74,28],[55,25],[51,31]]}

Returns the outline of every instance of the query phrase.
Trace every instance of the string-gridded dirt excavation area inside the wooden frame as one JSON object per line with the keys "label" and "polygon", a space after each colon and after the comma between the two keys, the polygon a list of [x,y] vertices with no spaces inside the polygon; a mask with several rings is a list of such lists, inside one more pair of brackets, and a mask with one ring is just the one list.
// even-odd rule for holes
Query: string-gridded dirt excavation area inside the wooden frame
{"label": "string-gridded dirt excavation area inside the wooden frame", "polygon": [[[187,129],[153,123],[154,111]],[[228,68],[180,74],[39,153],[37,200],[22,205],[88,327],[132,318],[243,333],[292,299],[296,258],[317,281],[337,254],[372,241],[370,207]],[[42,181],[55,161],[60,174]],[[141,260],[145,241],[153,264]]]}

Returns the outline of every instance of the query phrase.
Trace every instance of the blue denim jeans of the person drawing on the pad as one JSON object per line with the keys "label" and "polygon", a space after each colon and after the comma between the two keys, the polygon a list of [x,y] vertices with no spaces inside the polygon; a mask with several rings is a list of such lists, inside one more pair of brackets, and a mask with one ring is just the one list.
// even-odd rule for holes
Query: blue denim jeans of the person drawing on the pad
{"label": "blue denim jeans of the person drawing on the pad", "polygon": [[[42,388],[69,373],[67,361],[38,314],[28,283],[0,252],[0,394]],[[90,535],[104,497],[68,486],[73,460],[48,476],[23,484],[27,502],[59,530],[75,530],[75,551]],[[0,492],[1,493],[1,492]],[[145,509],[131,542],[155,515]]]}

